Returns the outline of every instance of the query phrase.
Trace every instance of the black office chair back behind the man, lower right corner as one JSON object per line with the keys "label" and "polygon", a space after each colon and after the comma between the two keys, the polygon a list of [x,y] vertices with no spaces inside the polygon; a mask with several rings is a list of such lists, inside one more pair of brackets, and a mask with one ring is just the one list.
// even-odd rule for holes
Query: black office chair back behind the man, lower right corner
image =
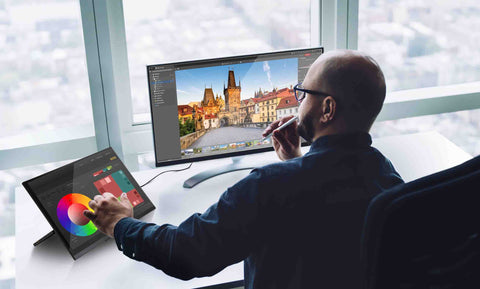
{"label": "black office chair back behind the man, lower right corner", "polygon": [[480,156],[369,204],[363,288],[480,288]]}

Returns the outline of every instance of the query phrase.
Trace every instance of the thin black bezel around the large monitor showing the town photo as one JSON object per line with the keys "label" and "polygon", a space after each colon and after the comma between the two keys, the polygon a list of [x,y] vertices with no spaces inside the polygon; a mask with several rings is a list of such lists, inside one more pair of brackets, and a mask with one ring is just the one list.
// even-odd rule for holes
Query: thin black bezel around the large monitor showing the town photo
{"label": "thin black bezel around the large monitor showing the town photo", "polygon": [[[228,153],[221,153],[217,155],[209,155],[209,156],[198,156],[198,157],[191,157],[191,158],[179,158],[179,159],[174,159],[174,160],[163,160],[159,161],[157,158],[157,151],[156,151],[156,141],[155,141],[155,124],[153,121],[153,102],[152,102],[152,97],[151,97],[151,87],[150,87],[150,81],[148,81],[149,77],[149,68],[154,67],[154,66],[159,66],[159,65],[172,65],[172,66],[177,66],[177,65],[182,65],[182,66],[187,66],[187,65],[196,65],[196,64],[205,64],[208,62],[212,61],[239,61],[239,60],[246,60],[246,59],[252,59],[252,58],[258,58],[258,57],[268,57],[268,56],[275,56],[279,54],[285,54],[285,53],[308,53],[308,52],[321,52],[321,55],[325,53],[325,49],[323,46],[319,47],[310,47],[310,48],[299,48],[299,49],[289,49],[289,50],[277,50],[277,51],[271,51],[271,52],[264,52],[264,53],[254,53],[254,54],[245,54],[245,55],[237,55],[237,56],[227,56],[227,57],[219,57],[219,58],[208,58],[208,59],[199,59],[199,60],[186,60],[186,61],[177,61],[177,62],[167,62],[167,63],[159,63],[159,64],[151,64],[146,66],[146,71],[147,71],[147,82],[148,82],[148,99],[150,101],[150,118],[151,118],[151,124],[152,124],[152,136],[153,136],[153,151],[155,155],[155,167],[163,167],[163,166],[169,166],[169,165],[175,165],[175,164],[183,164],[183,163],[192,163],[192,162],[199,162],[199,161],[206,161],[206,160],[212,160],[212,159],[219,159],[219,158],[228,158],[228,157],[236,157],[236,156],[244,156],[248,154],[255,154],[255,153],[262,153],[262,152],[268,152],[268,151],[273,151],[274,148],[273,146],[266,147],[266,148],[258,148],[258,149],[249,149],[249,150],[244,150],[244,151],[237,151],[237,152],[228,152]],[[177,106],[178,106],[178,98],[177,98]],[[307,141],[301,142],[301,146],[309,146],[311,143]]]}

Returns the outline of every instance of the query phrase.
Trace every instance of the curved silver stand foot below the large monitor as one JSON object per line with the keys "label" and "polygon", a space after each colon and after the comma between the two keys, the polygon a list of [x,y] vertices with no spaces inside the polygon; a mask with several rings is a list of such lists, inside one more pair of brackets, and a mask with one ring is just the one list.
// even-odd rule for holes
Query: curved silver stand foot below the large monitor
{"label": "curved silver stand foot below the large monitor", "polygon": [[[255,165],[255,162],[249,162],[249,163],[242,162],[242,160],[244,159],[243,157],[232,157],[231,159],[232,159],[231,164],[214,167],[212,169],[209,169],[194,175],[193,177],[189,178],[183,183],[183,187],[190,189],[196,186],[197,184],[205,180],[208,180],[210,178],[213,178],[215,176],[234,172],[234,171],[240,171],[240,170],[252,170],[258,166],[258,162],[256,163],[257,165]],[[262,165],[265,165],[265,163],[262,163]]]}

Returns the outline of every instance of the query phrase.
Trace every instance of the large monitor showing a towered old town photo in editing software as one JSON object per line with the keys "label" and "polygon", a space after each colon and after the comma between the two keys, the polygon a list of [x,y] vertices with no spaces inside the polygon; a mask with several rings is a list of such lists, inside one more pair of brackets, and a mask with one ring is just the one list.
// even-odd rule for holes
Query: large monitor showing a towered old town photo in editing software
{"label": "large monitor showing a towered old town photo in editing software", "polygon": [[323,48],[147,66],[156,165],[272,150],[263,130],[298,114],[293,87]]}

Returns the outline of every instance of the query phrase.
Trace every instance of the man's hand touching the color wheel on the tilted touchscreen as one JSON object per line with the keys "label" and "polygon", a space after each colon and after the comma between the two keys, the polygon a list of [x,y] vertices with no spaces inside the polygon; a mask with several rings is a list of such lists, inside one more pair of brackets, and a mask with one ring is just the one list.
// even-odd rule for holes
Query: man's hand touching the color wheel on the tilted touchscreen
{"label": "man's hand touching the color wheel on the tilted touchscreen", "polygon": [[112,238],[118,221],[124,217],[133,217],[133,208],[125,193],[120,196],[120,200],[110,193],[96,195],[88,205],[94,212],[85,210],[83,214],[92,220],[100,231]]}

